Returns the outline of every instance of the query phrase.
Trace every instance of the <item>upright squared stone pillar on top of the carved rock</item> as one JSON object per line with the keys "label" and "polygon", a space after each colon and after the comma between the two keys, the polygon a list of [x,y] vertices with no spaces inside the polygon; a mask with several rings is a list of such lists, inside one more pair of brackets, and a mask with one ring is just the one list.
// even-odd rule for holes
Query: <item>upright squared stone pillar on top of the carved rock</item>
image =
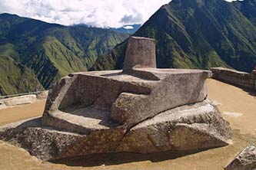
{"label": "upright squared stone pillar on top of the carved rock", "polygon": [[129,38],[123,71],[131,73],[132,68],[156,68],[155,39]]}

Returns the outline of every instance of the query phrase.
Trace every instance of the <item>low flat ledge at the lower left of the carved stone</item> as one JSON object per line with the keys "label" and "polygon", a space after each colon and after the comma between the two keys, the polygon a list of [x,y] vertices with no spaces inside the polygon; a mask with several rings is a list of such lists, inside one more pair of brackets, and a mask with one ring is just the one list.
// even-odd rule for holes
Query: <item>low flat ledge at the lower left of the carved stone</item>
{"label": "low flat ledge at the lower left of the carved stone", "polygon": [[55,110],[52,114],[45,114],[42,123],[85,135],[94,130],[117,126],[111,121],[109,114],[108,110],[98,110],[91,106],[71,108],[65,111]]}

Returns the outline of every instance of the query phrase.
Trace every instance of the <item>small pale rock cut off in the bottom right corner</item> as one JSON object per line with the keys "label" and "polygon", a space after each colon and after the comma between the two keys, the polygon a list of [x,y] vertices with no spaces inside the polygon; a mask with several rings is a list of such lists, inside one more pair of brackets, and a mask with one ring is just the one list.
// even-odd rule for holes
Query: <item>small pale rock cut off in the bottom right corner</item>
{"label": "small pale rock cut off in the bottom right corner", "polygon": [[256,169],[256,147],[249,145],[240,152],[225,170],[254,170]]}

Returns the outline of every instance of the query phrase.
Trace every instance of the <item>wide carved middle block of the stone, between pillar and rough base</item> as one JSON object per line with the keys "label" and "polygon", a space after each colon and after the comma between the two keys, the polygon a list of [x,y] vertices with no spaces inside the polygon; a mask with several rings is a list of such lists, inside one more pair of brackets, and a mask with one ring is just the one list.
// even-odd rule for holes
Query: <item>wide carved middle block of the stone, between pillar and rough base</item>
{"label": "wide carved middle block of the stone, between pillar and rough base", "polygon": [[[154,68],[135,69],[131,75],[123,74],[122,70],[70,74],[49,92],[43,122],[64,128],[56,121],[68,119],[69,123],[81,126],[85,121],[70,121],[72,118],[68,115],[76,119],[75,108],[81,112],[88,107],[102,110],[102,115],[107,112],[112,120],[110,124],[130,128],[165,110],[203,101],[207,96],[204,81],[208,77],[211,72],[206,70]],[[87,113],[79,114],[86,117]],[[48,119],[49,116],[55,119]],[[65,126],[65,129],[71,127]]]}

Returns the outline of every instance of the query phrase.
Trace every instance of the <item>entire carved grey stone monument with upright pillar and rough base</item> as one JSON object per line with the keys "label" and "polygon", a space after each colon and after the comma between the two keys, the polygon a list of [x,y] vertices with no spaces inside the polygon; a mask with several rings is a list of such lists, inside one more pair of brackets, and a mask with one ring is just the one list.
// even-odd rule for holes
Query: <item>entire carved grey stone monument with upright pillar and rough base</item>
{"label": "entire carved grey stone monument with upright pillar and rough base", "polygon": [[42,160],[228,145],[229,123],[206,100],[208,77],[156,68],[155,40],[131,37],[124,70],[69,74],[49,90],[42,117],[2,126],[0,139]]}

